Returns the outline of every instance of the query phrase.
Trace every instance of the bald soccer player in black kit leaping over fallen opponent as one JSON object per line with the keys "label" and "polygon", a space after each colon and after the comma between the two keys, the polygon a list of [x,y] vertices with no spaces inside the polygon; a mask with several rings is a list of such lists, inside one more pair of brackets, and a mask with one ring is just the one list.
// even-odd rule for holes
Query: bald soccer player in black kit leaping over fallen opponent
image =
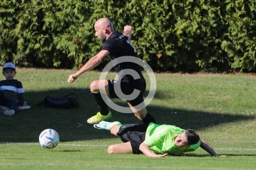
{"label": "bald soccer player in black kit leaping over fallen opponent", "polygon": [[[140,93],[136,98],[122,99],[127,101],[132,112],[134,112],[134,115],[139,120],[143,121],[143,123],[156,123],[154,117],[149,114],[145,108],[143,93],[146,88],[146,81],[141,73],[140,65],[134,62],[116,62],[116,59],[122,57],[125,58],[125,61],[129,58],[138,58],[136,49],[133,47],[131,42],[129,42],[129,40],[131,40],[132,27],[125,26],[124,33],[117,33],[113,28],[111,20],[108,18],[102,18],[95,22],[94,29],[95,36],[97,36],[97,38],[100,39],[100,42],[103,43],[103,47],[100,52],[89,59],[80,70],[69,75],[68,83],[74,82],[79,75],[95,68],[95,66],[99,65],[102,59],[106,56],[109,56],[109,59],[113,63],[114,68],[118,73],[118,80],[97,80],[90,84],[92,96],[99,106],[100,111],[97,112],[95,116],[89,118],[87,122],[95,124],[111,118],[111,112],[104,101],[108,98],[107,95],[111,98],[120,98],[118,97],[120,95],[118,95],[115,90],[115,87],[120,87],[124,95],[131,95],[134,89],[138,89]],[[125,74],[125,70],[132,70],[131,73],[136,72],[137,75],[139,75],[139,78],[136,77],[136,79],[134,79],[134,77],[129,73]],[[102,93],[100,91],[105,91],[106,93]],[[137,107],[140,104],[143,104],[143,108]]]}

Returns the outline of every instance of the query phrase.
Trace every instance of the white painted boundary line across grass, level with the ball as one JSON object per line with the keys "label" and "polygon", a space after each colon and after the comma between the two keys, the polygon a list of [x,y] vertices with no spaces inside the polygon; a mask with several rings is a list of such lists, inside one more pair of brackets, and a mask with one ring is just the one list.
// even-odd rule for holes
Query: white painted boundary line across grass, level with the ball
{"label": "white painted boundary line across grass, level with the ball", "polygon": [[[39,143],[0,143],[0,144],[40,145]],[[61,144],[61,143],[59,143],[58,146],[108,147],[109,145],[101,145],[101,144]],[[254,148],[214,148],[214,150],[256,151],[256,149],[254,149]]]}

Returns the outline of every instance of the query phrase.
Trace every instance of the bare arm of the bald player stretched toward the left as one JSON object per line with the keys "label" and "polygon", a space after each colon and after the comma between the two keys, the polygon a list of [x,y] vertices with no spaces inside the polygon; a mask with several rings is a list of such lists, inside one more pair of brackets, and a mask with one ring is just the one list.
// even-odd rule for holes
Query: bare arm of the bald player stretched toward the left
{"label": "bare arm of the bald player stretched toward the left", "polygon": [[95,68],[95,66],[98,66],[100,64],[100,62],[102,61],[102,59],[106,56],[108,56],[109,52],[108,50],[100,50],[100,52],[98,54],[96,54],[95,56],[93,56],[92,58],[90,58],[87,63],[85,63],[85,65],[78,70],[76,73],[69,75],[68,77],[68,83],[72,83],[74,81],[76,81],[76,79],[79,77],[79,75],[81,75],[84,72],[88,72],[90,70],[92,70],[93,68]]}

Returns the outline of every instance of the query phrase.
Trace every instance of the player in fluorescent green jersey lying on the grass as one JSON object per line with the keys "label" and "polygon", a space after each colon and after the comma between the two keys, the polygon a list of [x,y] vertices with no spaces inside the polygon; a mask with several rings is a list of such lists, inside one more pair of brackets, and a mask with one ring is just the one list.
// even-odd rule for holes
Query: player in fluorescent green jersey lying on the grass
{"label": "player in fluorescent green jersey lying on the grass", "polygon": [[[174,125],[124,124],[119,121],[100,121],[93,127],[110,130],[124,143],[112,144],[108,153],[144,153],[148,157],[180,156],[201,147],[212,156],[219,156],[194,130],[184,130]],[[226,157],[220,155],[220,157]]]}

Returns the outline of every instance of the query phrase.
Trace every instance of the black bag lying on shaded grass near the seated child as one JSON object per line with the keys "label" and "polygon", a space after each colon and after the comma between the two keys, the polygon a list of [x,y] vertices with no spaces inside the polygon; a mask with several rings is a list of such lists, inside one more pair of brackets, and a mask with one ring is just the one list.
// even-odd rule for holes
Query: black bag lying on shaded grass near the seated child
{"label": "black bag lying on shaded grass near the seated child", "polygon": [[[75,97],[71,97],[74,95]],[[37,105],[44,104],[45,107],[55,107],[55,108],[63,108],[70,109],[71,107],[78,107],[79,99],[75,93],[71,93],[64,97],[45,97],[42,102]]]}

